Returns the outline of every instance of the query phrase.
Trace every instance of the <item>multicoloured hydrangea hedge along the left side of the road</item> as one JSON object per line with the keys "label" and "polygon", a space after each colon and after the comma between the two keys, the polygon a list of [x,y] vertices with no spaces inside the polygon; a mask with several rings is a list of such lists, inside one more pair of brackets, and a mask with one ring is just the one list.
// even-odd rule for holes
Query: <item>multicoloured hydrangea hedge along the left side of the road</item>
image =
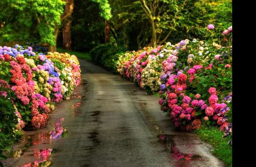
{"label": "multicoloured hydrangea hedge along the left side of the road", "polygon": [[[32,47],[19,45],[0,47],[0,100],[5,104],[0,112],[1,146],[4,138],[23,128],[45,127],[56,103],[69,99],[80,80],[74,55],[37,54]],[[0,147],[0,155],[4,149]]]}

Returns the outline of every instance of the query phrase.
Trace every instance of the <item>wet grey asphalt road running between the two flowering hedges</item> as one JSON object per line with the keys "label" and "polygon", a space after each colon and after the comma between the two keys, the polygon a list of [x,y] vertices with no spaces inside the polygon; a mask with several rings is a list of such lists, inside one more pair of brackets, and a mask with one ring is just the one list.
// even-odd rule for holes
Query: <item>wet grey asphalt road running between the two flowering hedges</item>
{"label": "wet grey asphalt road running between the two flowering hedges", "polygon": [[[61,102],[48,126],[26,131],[14,150],[30,144],[23,155],[8,158],[7,167],[47,160],[53,167],[222,167],[211,146],[195,134],[175,131],[158,98],[146,95],[134,83],[90,62],[80,60],[82,84],[72,98]],[[66,137],[50,138],[61,118]],[[159,135],[168,140],[160,140]],[[54,149],[36,157],[40,149]],[[195,160],[178,160],[192,154]]]}

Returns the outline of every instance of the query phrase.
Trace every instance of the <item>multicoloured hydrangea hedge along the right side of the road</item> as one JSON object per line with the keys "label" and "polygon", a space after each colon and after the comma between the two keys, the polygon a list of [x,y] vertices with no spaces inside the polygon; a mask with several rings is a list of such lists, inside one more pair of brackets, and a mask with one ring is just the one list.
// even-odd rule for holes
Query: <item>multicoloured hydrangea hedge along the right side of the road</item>
{"label": "multicoloured hydrangea hedge along the right side of the road", "polygon": [[159,94],[161,110],[178,129],[218,125],[226,136],[232,133],[232,26],[222,34],[214,25],[206,29],[208,40],[127,51],[111,64],[148,94]]}

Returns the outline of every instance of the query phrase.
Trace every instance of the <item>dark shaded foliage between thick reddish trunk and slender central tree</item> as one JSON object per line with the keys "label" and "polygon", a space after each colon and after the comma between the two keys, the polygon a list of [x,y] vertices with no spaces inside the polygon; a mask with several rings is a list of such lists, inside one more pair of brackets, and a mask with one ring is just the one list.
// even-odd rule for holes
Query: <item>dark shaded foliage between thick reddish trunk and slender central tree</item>
{"label": "dark shaded foliage between thick reddish trunk and slender central tree", "polygon": [[[104,18],[99,15],[97,3],[91,0],[75,0],[72,13],[72,49],[90,51],[93,47],[105,43]],[[62,47],[62,36],[58,38]]]}

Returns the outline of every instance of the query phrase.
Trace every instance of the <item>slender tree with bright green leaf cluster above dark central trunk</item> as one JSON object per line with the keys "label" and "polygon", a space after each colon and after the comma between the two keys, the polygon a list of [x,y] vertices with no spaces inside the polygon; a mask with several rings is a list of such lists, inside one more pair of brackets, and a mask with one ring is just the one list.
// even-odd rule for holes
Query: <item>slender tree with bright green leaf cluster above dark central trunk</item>
{"label": "slender tree with bright green leaf cluster above dark central trunk", "polygon": [[92,0],[94,2],[97,2],[99,4],[99,8],[101,10],[100,15],[105,18],[105,43],[110,42],[110,24],[109,20],[112,18],[111,15],[111,7],[109,5],[108,0]]}

